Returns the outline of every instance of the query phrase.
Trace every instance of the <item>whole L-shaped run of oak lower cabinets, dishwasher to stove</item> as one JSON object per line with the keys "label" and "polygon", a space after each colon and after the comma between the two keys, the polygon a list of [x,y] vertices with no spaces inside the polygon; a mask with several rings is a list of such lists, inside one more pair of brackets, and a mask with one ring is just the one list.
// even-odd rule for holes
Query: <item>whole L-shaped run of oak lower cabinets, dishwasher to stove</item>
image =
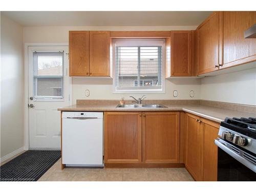
{"label": "whole L-shaped run of oak lower cabinets, dishwasher to stove", "polygon": [[219,126],[184,112],[105,112],[104,161],[184,163],[196,181],[216,181]]}

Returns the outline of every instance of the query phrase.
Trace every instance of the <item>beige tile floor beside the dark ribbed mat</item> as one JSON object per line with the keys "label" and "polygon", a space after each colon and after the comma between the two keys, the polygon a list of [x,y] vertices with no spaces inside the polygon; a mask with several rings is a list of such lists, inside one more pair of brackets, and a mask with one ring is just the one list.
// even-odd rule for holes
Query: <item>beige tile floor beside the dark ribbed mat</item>
{"label": "beige tile floor beside the dark ribbed mat", "polygon": [[194,181],[185,168],[73,168],[60,159],[38,181]]}

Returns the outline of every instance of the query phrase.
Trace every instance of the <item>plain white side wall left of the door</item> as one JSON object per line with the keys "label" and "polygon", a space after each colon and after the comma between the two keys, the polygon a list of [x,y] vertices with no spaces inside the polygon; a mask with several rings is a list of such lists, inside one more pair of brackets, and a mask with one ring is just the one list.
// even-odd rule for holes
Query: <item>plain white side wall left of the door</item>
{"label": "plain white side wall left of the door", "polygon": [[23,28],[1,14],[1,158],[23,146]]}

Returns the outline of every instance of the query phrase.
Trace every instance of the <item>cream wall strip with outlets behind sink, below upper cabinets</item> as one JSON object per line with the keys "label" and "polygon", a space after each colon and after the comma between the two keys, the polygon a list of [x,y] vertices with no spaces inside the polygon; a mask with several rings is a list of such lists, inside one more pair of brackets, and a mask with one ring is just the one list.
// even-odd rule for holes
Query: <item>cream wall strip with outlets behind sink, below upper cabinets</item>
{"label": "cream wall strip with outlets behind sink, below upper cabinets", "polygon": [[[76,99],[124,99],[130,95],[140,97],[143,94],[120,94],[112,93],[112,79],[84,79],[73,78],[73,103]],[[90,90],[90,97],[85,96],[85,90]],[[173,97],[173,91],[178,91],[178,96]],[[189,96],[189,91],[195,92],[195,97]],[[146,93],[147,99],[200,99],[200,80],[199,79],[166,79],[165,93]]]}

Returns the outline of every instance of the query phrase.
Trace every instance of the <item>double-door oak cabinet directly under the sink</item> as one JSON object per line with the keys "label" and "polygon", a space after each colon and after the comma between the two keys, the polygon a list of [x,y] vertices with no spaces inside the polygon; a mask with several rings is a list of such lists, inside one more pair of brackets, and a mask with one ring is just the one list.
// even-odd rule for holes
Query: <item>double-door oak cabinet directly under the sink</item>
{"label": "double-door oak cabinet directly under the sink", "polygon": [[179,163],[180,112],[105,112],[105,163]]}

